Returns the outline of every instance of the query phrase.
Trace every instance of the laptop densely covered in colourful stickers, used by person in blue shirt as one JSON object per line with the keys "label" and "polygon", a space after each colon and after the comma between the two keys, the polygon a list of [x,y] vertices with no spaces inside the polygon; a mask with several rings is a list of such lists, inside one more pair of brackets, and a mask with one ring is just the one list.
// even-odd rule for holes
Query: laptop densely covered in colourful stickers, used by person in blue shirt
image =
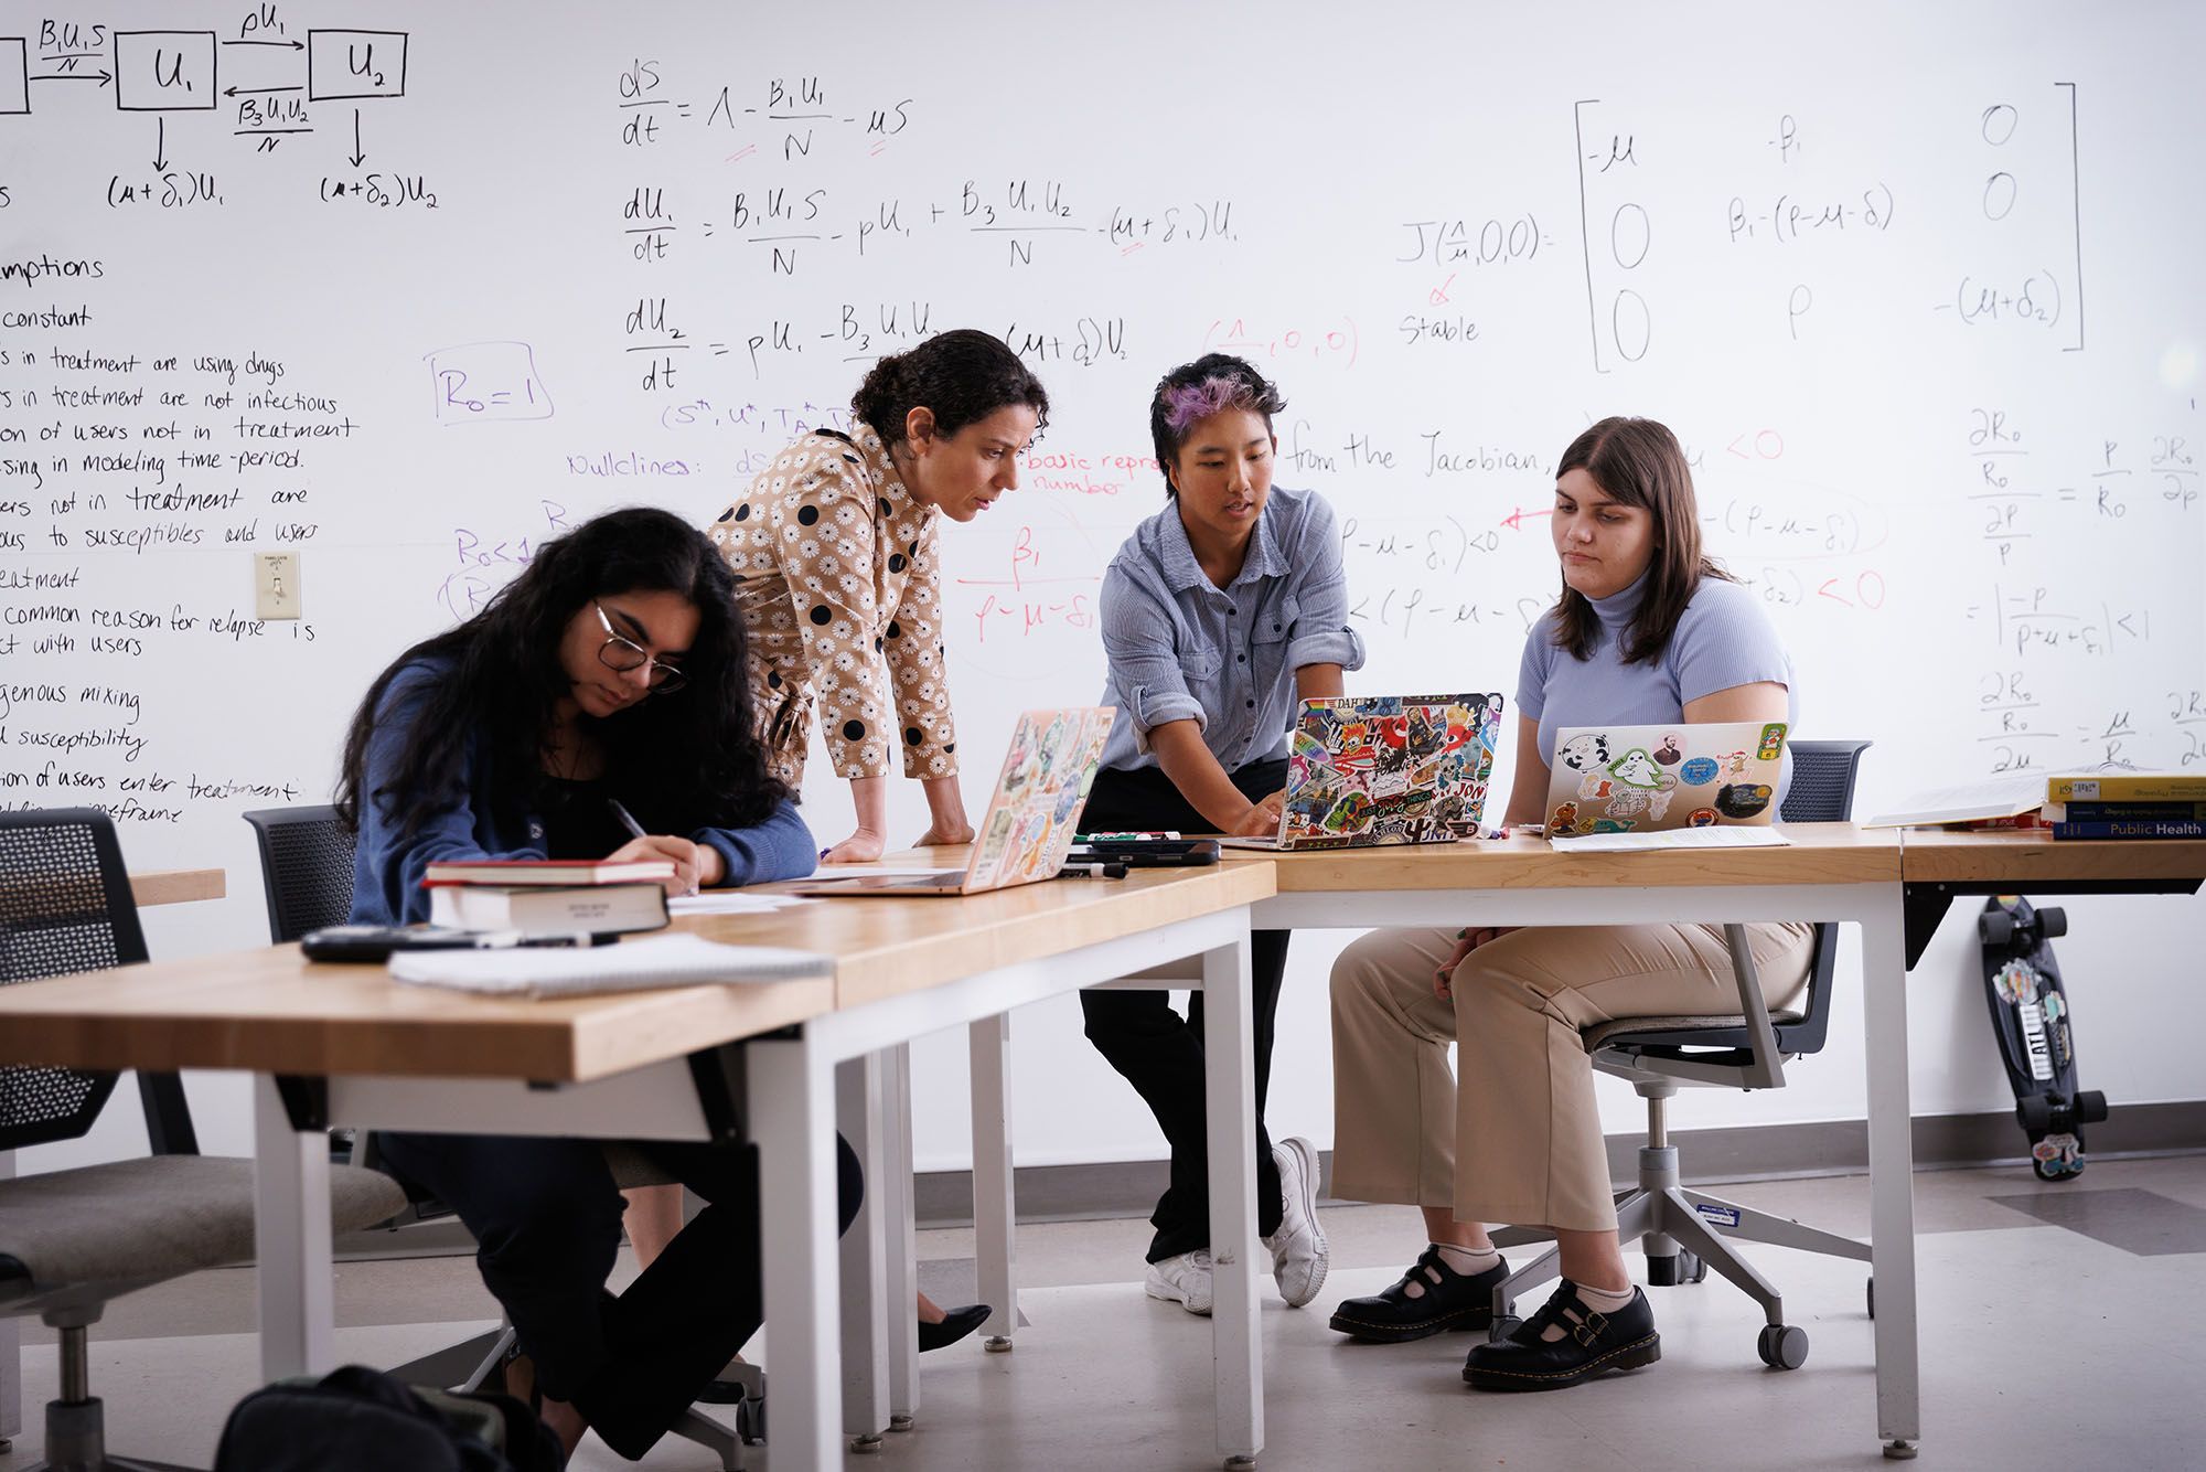
{"label": "laptop densely covered in colourful stickers, used by person in blue shirt", "polygon": [[1220,843],[1302,852],[1476,839],[1500,726],[1500,695],[1304,700],[1279,832]]}

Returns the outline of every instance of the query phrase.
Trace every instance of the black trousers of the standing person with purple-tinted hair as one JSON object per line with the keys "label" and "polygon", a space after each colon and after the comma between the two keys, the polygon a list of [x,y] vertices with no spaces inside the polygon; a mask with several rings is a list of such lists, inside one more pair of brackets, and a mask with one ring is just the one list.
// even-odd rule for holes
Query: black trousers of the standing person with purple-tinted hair
{"label": "black trousers of the standing person with purple-tinted hair", "polygon": [[[1251,761],[1231,772],[1244,797],[1268,797],[1286,786],[1286,761]],[[1103,768],[1081,812],[1083,832],[1176,828],[1209,832],[1163,768]],[[1279,1229],[1279,1165],[1271,1159],[1264,1130],[1264,1097],[1271,1090],[1271,1035],[1279,1011],[1279,978],[1286,973],[1291,931],[1255,931],[1249,938],[1249,980],[1255,1046],[1255,1216],[1257,1231]],[[1156,1201],[1149,1225],[1149,1262],[1211,1245],[1211,1150],[1209,1110],[1202,1101],[1202,993],[1187,1000],[1187,1017],[1171,1011],[1169,991],[1083,991],[1081,1013],[1088,1042],[1125,1075],[1141,1101],[1156,1114],[1171,1145],[1171,1183]]]}

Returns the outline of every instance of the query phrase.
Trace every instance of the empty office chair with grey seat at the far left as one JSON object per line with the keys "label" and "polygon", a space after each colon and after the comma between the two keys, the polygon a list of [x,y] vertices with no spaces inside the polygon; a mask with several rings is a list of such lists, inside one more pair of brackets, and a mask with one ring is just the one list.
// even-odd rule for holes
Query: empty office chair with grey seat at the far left
{"label": "empty office chair with grey seat at the far left", "polygon": [[[93,808],[0,812],[0,986],[146,960],[115,828]],[[0,1150],[77,1139],[113,1073],[0,1066]],[[390,1176],[333,1167],[331,1225],[364,1227],[406,1194]],[[0,1181],[0,1315],[38,1313],[62,1337],[62,1395],[46,1401],[42,1468],[170,1468],[106,1452],[86,1331],[108,1300],[254,1256],[254,1163],[152,1154]],[[26,1472],[38,1472],[26,1470]]]}

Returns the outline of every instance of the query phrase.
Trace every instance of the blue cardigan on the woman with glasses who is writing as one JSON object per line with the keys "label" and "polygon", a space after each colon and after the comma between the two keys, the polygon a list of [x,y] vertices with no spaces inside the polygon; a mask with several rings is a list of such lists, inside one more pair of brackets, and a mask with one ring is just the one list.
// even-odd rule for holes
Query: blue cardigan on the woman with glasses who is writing
{"label": "blue cardigan on the woman with glasses who is writing", "polygon": [[[421,715],[430,691],[450,671],[443,660],[415,660],[384,691],[368,735],[366,779],[360,794],[360,843],[353,850],[355,925],[408,925],[428,920],[428,889],[421,874],[430,863],[448,858],[549,858],[545,852],[543,814],[499,814],[490,808],[490,781],[481,761],[481,737],[468,742],[461,768],[461,790],[454,806],[430,814],[401,834],[393,814],[373,792],[388,781],[390,766],[404,748],[406,733]],[[728,874],[724,885],[757,885],[772,878],[801,878],[818,861],[812,830],[796,803],[783,799],[757,828],[697,828],[686,834],[695,843],[719,850]]]}

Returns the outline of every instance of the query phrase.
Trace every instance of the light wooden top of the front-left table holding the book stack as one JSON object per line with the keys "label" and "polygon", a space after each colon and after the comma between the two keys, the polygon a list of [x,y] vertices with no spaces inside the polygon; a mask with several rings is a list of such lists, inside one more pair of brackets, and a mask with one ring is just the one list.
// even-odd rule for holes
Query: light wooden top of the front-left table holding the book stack
{"label": "light wooden top of the front-left table holding the book stack", "polygon": [[404,986],[382,967],[315,964],[298,947],[263,947],[0,986],[0,1059],[585,1081],[807,1022],[838,1000],[915,991],[1268,896],[1268,870],[1235,865],[964,900],[821,900],[763,916],[690,916],[679,929],[821,951],[832,971],[545,1002]]}

